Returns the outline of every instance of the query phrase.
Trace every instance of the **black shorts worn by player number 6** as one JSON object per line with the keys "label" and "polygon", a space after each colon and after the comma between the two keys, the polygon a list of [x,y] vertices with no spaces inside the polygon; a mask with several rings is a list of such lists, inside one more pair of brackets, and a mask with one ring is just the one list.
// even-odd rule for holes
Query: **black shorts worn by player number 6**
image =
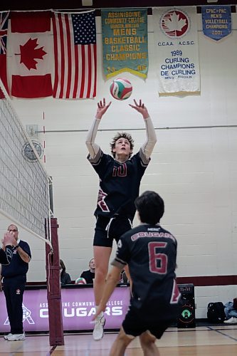
{"label": "black shorts worn by player number 6", "polygon": [[[148,311],[147,311],[148,312]],[[150,311],[152,313],[152,311]],[[152,335],[160,339],[164,334],[164,331],[169,328],[170,323],[167,321],[146,320],[146,316],[139,313],[137,310],[130,308],[125,315],[125,320],[122,322],[122,328],[126,335],[132,335],[134,337],[142,335],[142,333],[149,331]]]}

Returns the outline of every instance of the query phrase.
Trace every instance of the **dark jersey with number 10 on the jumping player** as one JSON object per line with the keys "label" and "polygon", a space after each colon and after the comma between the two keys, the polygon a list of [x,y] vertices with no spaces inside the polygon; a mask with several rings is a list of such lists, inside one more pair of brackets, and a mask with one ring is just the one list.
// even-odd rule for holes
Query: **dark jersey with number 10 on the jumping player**
{"label": "dark jersey with number 10 on the jumping player", "polygon": [[140,182],[150,159],[142,150],[123,163],[101,150],[94,159],[90,155],[88,159],[100,177],[95,216],[120,214],[132,221],[136,211],[134,201],[139,195]]}

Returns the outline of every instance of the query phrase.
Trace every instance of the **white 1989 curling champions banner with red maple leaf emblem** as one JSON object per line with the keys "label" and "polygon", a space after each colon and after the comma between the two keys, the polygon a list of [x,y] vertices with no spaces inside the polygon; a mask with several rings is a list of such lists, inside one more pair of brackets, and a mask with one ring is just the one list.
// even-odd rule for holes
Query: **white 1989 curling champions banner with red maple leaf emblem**
{"label": "white 1989 curling champions banner with red maple leaf emblem", "polygon": [[196,6],[153,9],[159,95],[200,93]]}

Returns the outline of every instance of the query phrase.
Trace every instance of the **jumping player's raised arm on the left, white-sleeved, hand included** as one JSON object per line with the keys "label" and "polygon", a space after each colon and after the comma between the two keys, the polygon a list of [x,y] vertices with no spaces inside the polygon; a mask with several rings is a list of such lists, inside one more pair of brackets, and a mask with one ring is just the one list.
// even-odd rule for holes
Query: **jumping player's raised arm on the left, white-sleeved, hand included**
{"label": "jumping player's raised arm on the left, white-sleeved, hand included", "polygon": [[93,123],[90,127],[90,130],[88,131],[88,135],[86,136],[86,140],[85,140],[85,145],[88,147],[88,151],[90,153],[91,158],[95,158],[95,156],[98,154],[100,150],[100,146],[95,143],[95,137],[98,131],[98,126],[102,118],[102,115],[105,114],[107,109],[110,107],[110,104],[111,101],[106,105],[105,98],[103,98],[103,100],[100,100],[97,104],[98,108],[96,111],[95,120],[93,120]]}

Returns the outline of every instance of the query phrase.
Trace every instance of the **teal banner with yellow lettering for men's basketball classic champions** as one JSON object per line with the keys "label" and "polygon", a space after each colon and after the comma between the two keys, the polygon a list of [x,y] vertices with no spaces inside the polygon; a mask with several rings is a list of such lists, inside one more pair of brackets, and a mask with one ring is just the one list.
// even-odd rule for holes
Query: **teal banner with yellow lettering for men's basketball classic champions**
{"label": "teal banner with yellow lettering for men's basketball classic champions", "polygon": [[101,10],[106,78],[122,72],[147,77],[147,9]]}

